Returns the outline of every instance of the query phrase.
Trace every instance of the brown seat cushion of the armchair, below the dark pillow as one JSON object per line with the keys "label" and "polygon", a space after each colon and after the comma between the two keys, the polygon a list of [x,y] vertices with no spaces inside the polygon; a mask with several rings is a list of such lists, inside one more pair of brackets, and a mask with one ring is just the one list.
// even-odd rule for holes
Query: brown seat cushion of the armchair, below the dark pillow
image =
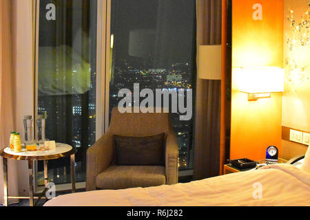
{"label": "brown seat cushion of the armchair, below the dark pillow", "polygon": [[110,166],[96,177],[96,188],[105,190],[161,186],[165,183],[165,166]]}

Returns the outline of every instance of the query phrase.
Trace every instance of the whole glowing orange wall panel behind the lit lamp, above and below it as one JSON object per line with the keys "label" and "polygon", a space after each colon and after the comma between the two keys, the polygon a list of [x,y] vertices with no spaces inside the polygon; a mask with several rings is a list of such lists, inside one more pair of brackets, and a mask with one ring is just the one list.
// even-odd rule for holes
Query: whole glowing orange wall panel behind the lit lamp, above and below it
{"label": "whole glowing orange wall panel behind the lit lamp, above and below it", "polygon": [[[254,4],[262,20],[254,20]],[[282,67],[283,0],[233,0],[231,159],[264,159],[267,146],[281,149],[282,94],[248,101],[238,90],[236,67]]]}

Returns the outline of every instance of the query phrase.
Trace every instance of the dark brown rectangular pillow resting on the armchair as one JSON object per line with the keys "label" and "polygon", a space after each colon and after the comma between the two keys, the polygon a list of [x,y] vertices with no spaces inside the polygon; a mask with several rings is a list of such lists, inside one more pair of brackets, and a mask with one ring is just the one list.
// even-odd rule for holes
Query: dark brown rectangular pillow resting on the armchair
{"label": "dark brown rectangular pillow resting on the armchair", "polygon": [[117,166],[165,166],[165,133],[147,137],[113,135]]}

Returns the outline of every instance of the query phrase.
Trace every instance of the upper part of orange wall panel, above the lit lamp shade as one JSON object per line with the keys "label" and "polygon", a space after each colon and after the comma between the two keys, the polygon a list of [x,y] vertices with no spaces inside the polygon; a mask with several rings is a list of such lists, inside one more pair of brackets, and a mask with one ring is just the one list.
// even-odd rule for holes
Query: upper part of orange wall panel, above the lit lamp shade
{"label": "upper part of orange wall panel, above the lit lamp shade", "polygon": [[[254,21],[253,6],[262,5]],[[233,67],[277,66],[283,63],[283,0],[233,0]]]}

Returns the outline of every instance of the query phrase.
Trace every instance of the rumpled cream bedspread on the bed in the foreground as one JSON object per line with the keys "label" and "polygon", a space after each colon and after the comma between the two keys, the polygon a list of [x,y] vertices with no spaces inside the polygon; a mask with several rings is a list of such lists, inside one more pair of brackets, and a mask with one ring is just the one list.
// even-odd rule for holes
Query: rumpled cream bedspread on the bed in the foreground
{"label": "rumpled cream bedspread on the bed in the foreground", "polygon": [[271,165],[187,184],[61,195],[45,206],[310,206],[310,173]]}

